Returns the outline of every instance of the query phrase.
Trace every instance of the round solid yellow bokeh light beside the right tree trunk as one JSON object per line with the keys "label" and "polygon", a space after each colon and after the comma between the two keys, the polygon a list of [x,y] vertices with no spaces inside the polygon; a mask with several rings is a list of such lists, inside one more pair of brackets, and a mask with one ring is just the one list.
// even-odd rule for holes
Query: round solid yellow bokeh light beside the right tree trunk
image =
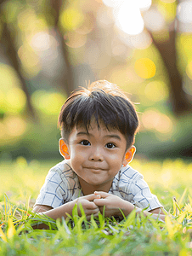
{"label": "round solid yellow bokeh light beside the right tree trunk", "polygon": [[135,61],[135,72],[142,79],[150,79],[155,76],[155,63],[149,58],[141,58]]}

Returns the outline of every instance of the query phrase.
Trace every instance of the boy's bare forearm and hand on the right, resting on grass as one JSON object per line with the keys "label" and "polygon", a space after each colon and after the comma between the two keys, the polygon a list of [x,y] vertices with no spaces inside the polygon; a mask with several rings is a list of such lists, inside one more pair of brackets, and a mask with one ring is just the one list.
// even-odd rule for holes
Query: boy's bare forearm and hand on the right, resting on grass
{"label": "boy's bare forearm and hand on the right, resting on grass", "polygon": [[[134,207],[132,203],[129,201],[125,201],[121,199],[117,195],[111,195],[105,192],[95,192],[95,195],[100,195],[100,199],[95,199],[93,202],[103,211],[104,208],[104,216],[111,217],[111,216],[119,216],[122,217],[121,211],[124,213],[125,216],[129,215],[134,209],[136,209],[137,213],[142,212],[142,209],[138,207]],[[121,209],[121,211],[119,210]],[[153,213],[153,214],[151,214]],[[165,214],[161,210],[161,208],[156,208],[151,210],[150,212],[144,211],[144,215],[152,215],[154,218],[158,218],[158,216],[165,220]]]}

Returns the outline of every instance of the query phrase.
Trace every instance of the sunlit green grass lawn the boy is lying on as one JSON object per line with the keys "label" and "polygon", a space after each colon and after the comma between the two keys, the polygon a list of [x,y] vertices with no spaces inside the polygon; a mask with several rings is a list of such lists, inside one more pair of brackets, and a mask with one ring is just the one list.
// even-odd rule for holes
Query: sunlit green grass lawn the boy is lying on
{"label": "sunlit green grass lawn the boy is lying on", "polygon": [[[121,222],[76,209],[62,223],[31,212],[48,169],[58,161],[0,162],[0,255],[191,255],[192,164],[133,160],[168,215],[165,223],[132,212]],[[42,222],[49,230],[33,230]]]}

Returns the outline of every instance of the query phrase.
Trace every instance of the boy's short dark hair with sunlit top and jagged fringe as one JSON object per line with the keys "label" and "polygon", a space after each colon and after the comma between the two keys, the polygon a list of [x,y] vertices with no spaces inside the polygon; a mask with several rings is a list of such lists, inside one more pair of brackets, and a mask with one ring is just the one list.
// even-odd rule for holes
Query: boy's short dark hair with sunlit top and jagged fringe
{"label": "boy's short dark hair with sunlit top and jagged fringe", "polygon": [[127,140],[127,148],[134,141],[138,130],[138,114],[133,102],[116,86],[99,80],[72,91],[59,113],[61,137],[68,142],[72,129],[84,125],[88,131],[91,119],[102,122],[108,130],[120,131]]}

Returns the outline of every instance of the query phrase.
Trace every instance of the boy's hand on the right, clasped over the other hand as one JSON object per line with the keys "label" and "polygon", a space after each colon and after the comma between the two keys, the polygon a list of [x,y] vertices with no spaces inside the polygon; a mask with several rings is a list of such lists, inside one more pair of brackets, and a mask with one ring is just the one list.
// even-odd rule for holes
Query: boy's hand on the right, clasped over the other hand
{"label": "boy's hand on the right, clasped over the other hand", "polygon": [[[94,195],[100,195],[100,199],[94,199],[93,202],[95,205],[99,207],[99,210],[103,212],[104,216],[119,216],[122,217],[121,211],[124,212],[125,216],[127,216],[130,212],[133,211],[134,206],[132,203],[121,199],[117,195],[111,195],[106,192],[94,192]],[[105,206],[105,208],[104,208]],[[119,210],[121,209],[121,211]]]}

